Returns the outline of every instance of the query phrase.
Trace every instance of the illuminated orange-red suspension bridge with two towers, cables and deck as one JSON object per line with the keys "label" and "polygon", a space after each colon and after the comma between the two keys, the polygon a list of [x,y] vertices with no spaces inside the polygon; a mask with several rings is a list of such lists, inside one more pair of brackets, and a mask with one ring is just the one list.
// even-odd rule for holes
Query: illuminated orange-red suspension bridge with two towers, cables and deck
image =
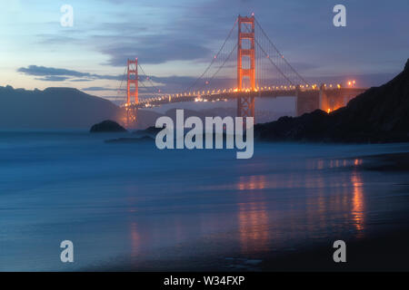
{"label": "illuminated orange-red suspension bridge with two towers, cables and deck", "polygon": [[[138,74],[138,71],[142,74]],[[163,92],[159,89],[137,58],[127,61],[125,75],[126,90],[121,82],[118,92],[126,92],[121,107],[126,111],[127,127],[137,121],[138,109],[172,102],[235,99],[237,116],[255,117],[256,97],[294,96],[296,114],[301,115],[316,109],[334,111],[366,90],[305,81],[265,34],[254,14],[236,18],[233,28],[204,73],[181,92]],[[143,92],[141,98],[139,91]]]}

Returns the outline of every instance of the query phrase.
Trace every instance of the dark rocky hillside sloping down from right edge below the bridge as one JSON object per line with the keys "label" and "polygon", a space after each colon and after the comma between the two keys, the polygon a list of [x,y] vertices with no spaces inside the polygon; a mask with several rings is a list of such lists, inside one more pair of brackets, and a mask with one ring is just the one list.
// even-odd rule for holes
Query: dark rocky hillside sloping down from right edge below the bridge
{"label": "dark rocky hillside sloping down from right edge below the bridge", "polygon": [[409,60],[390,82],[360,94],[344,108],[257,124],[259,140],[409,141]]}

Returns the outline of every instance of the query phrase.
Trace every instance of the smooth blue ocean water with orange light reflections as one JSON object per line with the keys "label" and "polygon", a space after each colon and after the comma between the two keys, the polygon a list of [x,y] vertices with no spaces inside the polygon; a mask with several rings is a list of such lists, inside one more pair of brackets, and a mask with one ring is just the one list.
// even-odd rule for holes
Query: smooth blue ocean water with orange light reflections
{"label": "smooth blue ocean water with orange light reflections", "polygon": [[[362,169],[409,144],[255,143],[236,160],[104,142],[124,136],[0,132],[1,271],[256,269],[409,220],[407,174]],[[63,240],[74,263],[60,261]]]}

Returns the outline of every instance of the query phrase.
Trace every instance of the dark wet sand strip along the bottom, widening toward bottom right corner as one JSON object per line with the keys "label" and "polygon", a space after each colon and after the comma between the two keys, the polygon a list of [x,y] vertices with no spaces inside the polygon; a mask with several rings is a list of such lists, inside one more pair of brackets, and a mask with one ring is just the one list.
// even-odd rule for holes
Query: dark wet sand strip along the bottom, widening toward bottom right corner
{"label": "dark wet sand strip along the bottom, widening toward bottom right corner", "polygon": [[409,271],[409,225],[381,235],[344,240],[346,263],[334,263],[333,242],[293,252],[272,252],[258,258],[215,257],[205,259],[158,259],[156,263],[115,264],[86,267],[81,271],[136,272],[354,272]]}

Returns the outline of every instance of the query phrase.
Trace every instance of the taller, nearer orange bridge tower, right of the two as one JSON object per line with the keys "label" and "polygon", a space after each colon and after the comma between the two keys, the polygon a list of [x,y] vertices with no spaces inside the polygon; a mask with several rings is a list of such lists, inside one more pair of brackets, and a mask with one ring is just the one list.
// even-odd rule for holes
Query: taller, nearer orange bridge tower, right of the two
{"label": "taller, nearer orange bridge tower, right of the two", "polygon": [[[237,43],[237,90],[243,88],[243,78],[250,79],[251,90],[255,91],[255,41],[254,15],[238,16]],[[244,62],[243,62],[244,61]],[[244,63],[246,66],[244,67]],[[237,98],[237,116],[254,117],[254,96],[239,96]]]}

